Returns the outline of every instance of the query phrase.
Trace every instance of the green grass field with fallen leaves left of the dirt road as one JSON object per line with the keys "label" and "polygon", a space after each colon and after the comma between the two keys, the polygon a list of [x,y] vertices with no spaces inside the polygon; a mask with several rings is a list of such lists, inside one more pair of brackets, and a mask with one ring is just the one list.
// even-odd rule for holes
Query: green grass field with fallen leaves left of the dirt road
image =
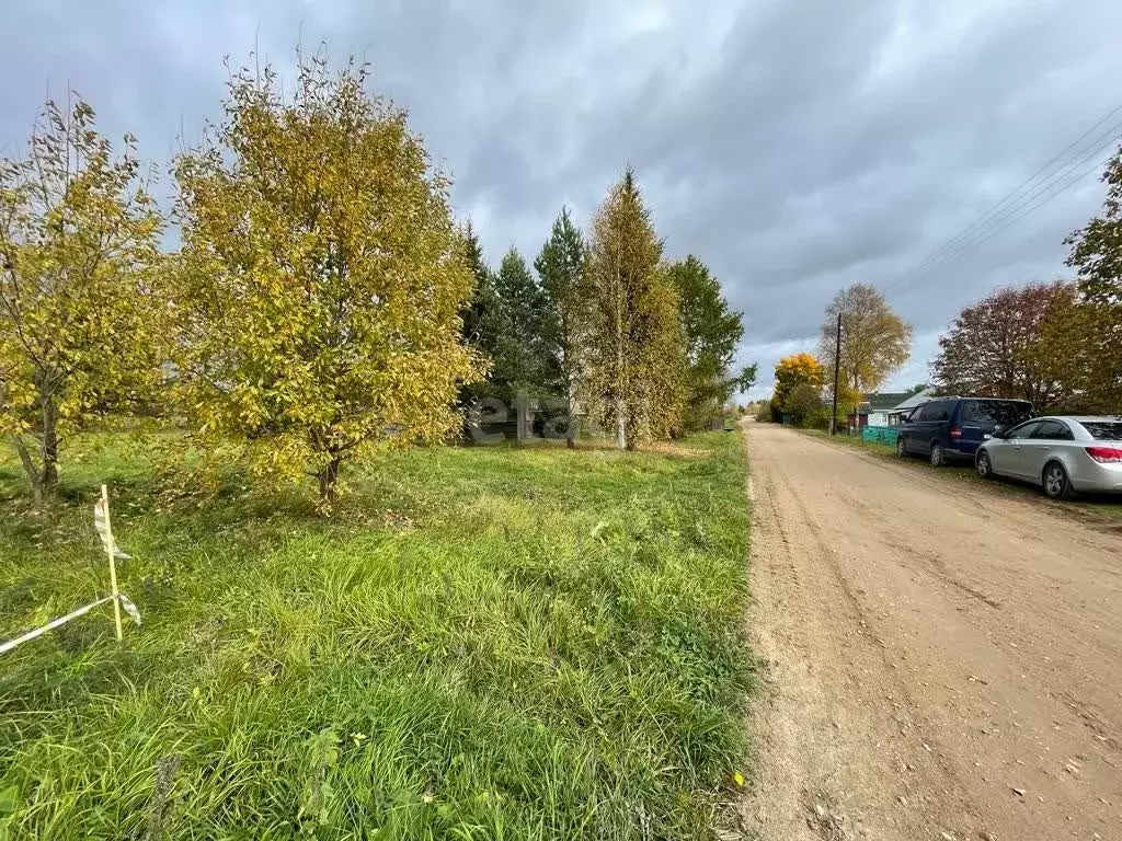
{"label": "green grass field with fallen leaves left of the dirt road", "polygon": [[747,773],[738,434],[663,452],[432,449],[335,519],[232,481],[167,501],[135,447],[31,510],[0,465],[0,838],[686,839]]}

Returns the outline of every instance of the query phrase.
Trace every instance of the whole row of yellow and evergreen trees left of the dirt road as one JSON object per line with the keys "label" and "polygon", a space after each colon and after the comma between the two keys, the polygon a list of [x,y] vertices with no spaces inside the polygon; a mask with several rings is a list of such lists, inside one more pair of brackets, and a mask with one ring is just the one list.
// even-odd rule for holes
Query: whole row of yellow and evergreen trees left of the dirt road
{"label": "whole row of yellow and evergreen trees left of the dirt road", "polygon": [[177,418],[201,466],[314,478],[327,511],[347,461],[449,440],[485,398],[516,406],[519,441],[605,422],[634,449],[754,380],[728,370],[742,314],[697,257],[664,258],[631,167],[587,235],[565,210],[533,271],[515,249],[493,271],[353,59],[232,72],[173,160],[169,219],[136,139],[114,154],[72,102],[0,160],[0,434],[36,499],[62,443],[121,413]]}

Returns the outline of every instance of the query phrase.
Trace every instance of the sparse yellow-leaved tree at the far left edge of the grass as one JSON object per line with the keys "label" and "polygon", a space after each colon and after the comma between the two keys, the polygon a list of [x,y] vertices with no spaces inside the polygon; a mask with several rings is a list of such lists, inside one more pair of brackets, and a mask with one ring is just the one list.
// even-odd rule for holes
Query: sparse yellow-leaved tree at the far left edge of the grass
{"label": "sparse yellow-leaved tree at the far left edge of the grass", "polygon": [[136,138],[114,155],[76,94],[46,103],[26,157],[0,160],[0,432],[36,500],[67,436],[159,387],[163,222],[146,187]]}

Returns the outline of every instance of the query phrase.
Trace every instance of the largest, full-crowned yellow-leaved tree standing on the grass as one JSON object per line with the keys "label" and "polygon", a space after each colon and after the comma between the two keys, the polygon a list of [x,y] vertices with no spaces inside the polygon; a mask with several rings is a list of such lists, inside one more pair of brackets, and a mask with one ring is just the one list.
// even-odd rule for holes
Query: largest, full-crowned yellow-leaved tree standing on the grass
{"label": "largest, full-crowned yellow-leaved tree standing on the grass", "polygon": [[344,460],[457,428],[476,372],[449,182],[367,82],[322,54],[297,54],[288,95],[270,67],[232,74],[224,120],[175,164],[186,414],[258,477],[314,477],[325,509]]}

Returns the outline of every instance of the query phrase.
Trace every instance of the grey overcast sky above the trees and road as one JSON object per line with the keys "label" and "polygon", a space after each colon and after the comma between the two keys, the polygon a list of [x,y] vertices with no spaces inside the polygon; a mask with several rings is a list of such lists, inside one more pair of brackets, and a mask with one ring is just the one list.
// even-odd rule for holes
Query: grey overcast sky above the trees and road
{"label": "grey overcast sky above the trees and road", "polygon": [[[587,222],[631,161],[668,255],[698,255],[744,311],[755,396],[781,355],[813,351],[848,284],[885,289],[914,326],[890,382],[905,386],[927,379],[964,304],[1063,275],[1065,234],[1102,203],[1097,173],[914,270],[1122,104],[1119,0],[3,6],[0,154],[70,84],[105,133],[131,130],[163,166],[181,130],[195,140],[218,114],[224,55],[249,61],[256,44],[283,68],[298,41],[324,40],[368,59],[408,110],[493,264],[511,244],[532,257],[562,205]],[[1073,177],[1107,156],[1077,166],[1086,148]]]}

